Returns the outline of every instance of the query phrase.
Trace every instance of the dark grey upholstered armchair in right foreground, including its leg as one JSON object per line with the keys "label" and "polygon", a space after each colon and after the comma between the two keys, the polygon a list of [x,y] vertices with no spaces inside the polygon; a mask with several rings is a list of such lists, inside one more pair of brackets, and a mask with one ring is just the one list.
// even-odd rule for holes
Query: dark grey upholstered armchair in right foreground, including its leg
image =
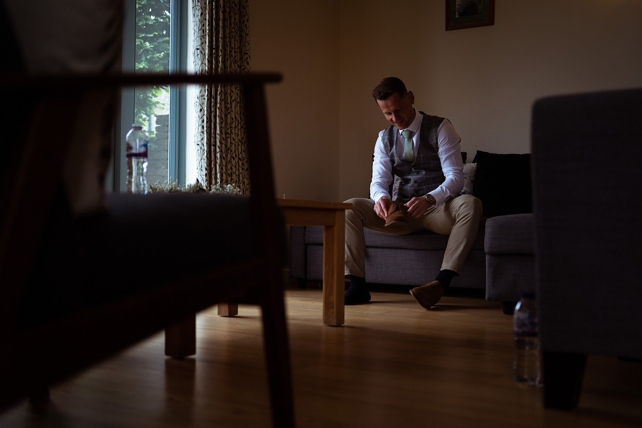
{"label": "dark grey upholstered armchair in right foreground, including its leg", "polygon": [[642,90],[535,103],[535,254],[546,407],[587,354],[642,358]]}

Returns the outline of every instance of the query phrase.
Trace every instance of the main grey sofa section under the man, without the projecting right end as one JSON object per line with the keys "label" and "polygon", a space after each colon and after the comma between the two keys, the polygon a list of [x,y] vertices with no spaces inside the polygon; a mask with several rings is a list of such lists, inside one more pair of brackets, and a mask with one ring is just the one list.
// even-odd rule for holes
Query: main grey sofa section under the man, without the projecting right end
{"label": "main grey sofa section under the man, without the projecting right end", "polygon": [[[485,223],[486,218],[482,218],[462,275],[453,279],[452,287],[486,286]],[[427,284],[435,279],[441,268],[448,237],[428,231],[393,235],[365,229],[366,281],[403,286]],[[304,287],[308,280],[321,280],[323,228],[292,226],[290,244],[290,276],[297,278],[300,287]]]}

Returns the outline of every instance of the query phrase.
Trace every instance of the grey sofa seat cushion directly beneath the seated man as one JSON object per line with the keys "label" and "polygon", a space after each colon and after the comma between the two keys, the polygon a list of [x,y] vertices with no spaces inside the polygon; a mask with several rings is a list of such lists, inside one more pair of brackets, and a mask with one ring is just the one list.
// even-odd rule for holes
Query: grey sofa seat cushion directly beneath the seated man
{"label": "grey sofa seat cushion directly beneath the seated man", "polygon": [[[480,229],[473,244],[474,250],[484,248],[485,218],[480,221]],[[376,230],[364,229],[365,245],[379,248],[405,248],[408,250],[445,250],[450,235],[439,235],[428,230],[408,235],[386,234]],[[306,227],[306,244],[322,244],[323,227]]]}

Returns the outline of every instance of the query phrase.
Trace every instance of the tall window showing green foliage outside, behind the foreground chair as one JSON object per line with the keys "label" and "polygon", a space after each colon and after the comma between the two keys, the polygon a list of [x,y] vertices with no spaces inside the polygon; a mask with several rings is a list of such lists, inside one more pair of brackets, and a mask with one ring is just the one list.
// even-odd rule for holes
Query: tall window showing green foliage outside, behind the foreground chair
{"label": "tall window showing green foliage outside, behind the foreground chair", "polygon": [[[123,73],[187,71],[187,64],[192,64],[187,61],[187,55],[191,56],[187,49],[187,32],[191,30],[187,28],[187,22],[191,22],[187,19],[187,7],[188,0],[125,0]],[[186,94],[186,87],[123,90],[120,123],[116,128],[114,191],[125,191],[125,135],[132,123],[143,125],[149,137],[148,182],[155,184],[173,178],[185,184],[186,119],[193,117],[193,108],[186,108]],[[190,175],[191,181],[193,178]]]}

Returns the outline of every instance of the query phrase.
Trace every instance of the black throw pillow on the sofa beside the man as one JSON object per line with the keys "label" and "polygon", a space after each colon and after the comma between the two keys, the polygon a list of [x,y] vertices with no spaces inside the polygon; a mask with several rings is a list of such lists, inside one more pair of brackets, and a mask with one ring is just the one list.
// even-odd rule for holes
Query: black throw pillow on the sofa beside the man
{"label": "black throw pillow on the sofa beside the man", "polygon": [[477,151],[473,196],[483,203],[482,216],[533,212],[530,196],[530,153]]}

